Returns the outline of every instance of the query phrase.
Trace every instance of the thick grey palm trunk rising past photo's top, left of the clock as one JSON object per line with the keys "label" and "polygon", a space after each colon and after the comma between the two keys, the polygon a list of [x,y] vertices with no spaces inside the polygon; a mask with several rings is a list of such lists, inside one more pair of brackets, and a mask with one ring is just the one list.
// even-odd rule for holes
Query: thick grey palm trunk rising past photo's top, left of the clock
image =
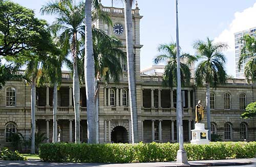
{"label": "thick grey palm trunk rising past photo's top, left of the clock", "polygon": [[96,118],[95,118],[95,69],[93,57],[92,41],[92,0],[86,0],[86,35],[85,35],[85,58],[84,58],[84,78],[86,83],[87,96],[87,132],[88,143],[96,143]]}

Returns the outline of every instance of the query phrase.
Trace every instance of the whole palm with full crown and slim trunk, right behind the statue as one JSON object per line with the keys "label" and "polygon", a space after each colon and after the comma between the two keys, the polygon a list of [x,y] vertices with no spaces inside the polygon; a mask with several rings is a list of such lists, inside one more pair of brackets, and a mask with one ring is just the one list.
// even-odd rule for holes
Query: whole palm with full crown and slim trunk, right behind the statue
{"label": "whole palm with full crown and slim trunk, right behind the statue", "polygon": [[225,43],[214,43],[209,38],[206,41],[196,41],[194,49],[197,51],[197,57],[200,61],[196,73],[195,83],[198,86],[206,86],[206,111],[207,111],[207,129],[208,139],[210,136],[210,85],[216,87],[217,84],[225,84],[226,71],[224,68],[225,56],[221,51],[227,49]]}

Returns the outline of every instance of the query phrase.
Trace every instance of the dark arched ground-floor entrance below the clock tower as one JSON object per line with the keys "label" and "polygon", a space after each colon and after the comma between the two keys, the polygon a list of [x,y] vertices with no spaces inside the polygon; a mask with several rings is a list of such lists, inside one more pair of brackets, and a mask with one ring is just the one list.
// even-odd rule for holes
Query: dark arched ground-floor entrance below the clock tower
{"label": "dark arched ground-floor entrance below the clock tower", "polygon": [[115,127],[111,132],[111,141],[114,143],[128,143],[127,130],[122,126]]}

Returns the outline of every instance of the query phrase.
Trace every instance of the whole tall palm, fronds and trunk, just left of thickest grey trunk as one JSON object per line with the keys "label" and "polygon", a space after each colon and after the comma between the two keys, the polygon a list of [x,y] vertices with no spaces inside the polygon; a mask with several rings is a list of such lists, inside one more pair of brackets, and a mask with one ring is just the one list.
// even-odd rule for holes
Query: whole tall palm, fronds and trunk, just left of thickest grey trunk
{"label": "whole tall palm, fronds and trunk, just left of thickest grey trunk", "polygon": [[84,4],[73,5],[71,0],[56,0],[41,8],[42,14],[56,14],[58,17],[52,25],[52,31],[59,34],[61,47],[66,55],[71,52],[73,58],[73,100],[75,112],[75,142],[80,142],[80,86],[77,71],[78,40],[84,36]]}

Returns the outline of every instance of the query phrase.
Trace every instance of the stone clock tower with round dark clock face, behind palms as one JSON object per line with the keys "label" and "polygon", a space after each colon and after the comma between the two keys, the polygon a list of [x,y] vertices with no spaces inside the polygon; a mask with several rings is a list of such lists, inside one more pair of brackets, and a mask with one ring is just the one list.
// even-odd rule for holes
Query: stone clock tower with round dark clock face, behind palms
{"label": "stone clock tower with round dark clock face, behind palms", "polygon": [[[101,29],[106,34],[115,36],[123,44],[123,51],[126,52],[126,43],[125,43],[125,22],[124,22],[124,9],[115,8],[115,7],[104,7],[100,4],[100,8],[103,12],[108,13],[112,20],[113,25],[108,25],[101,20],[96,20],[93,22],[93,25],[97,29]],[[136,3],[136,8],[132,10],[133,13],[133,41],[134,41],[134,56],[135,56],[135,73],[136,73],[136,82],[141,80],[140,78],[140,49],[142,45],[140,44],[140,19],[143,17],[139,14],[138,3]],[[121,60],[123,75],[120,78],[120,81],[127,81],[127,63],[126,61]]]}

